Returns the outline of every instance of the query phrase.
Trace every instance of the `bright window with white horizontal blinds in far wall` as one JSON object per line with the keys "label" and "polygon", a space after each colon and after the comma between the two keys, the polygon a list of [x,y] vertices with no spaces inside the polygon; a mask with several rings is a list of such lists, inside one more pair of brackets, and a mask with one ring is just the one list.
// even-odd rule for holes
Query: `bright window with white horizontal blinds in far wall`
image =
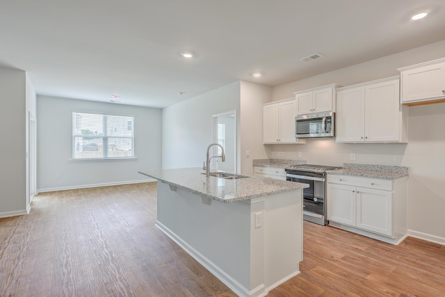
{"label": "bright window with white horizontal blinds in far wall", "polygon": [[134,158],[134,117],[72,113],[72,159]]}

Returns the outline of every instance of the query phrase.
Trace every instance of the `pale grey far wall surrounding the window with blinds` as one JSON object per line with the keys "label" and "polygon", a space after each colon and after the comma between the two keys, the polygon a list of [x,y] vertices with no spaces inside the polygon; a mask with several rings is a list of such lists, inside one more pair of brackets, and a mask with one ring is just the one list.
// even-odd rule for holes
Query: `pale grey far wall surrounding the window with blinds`
{"label": "pale grey far wall surrounding the window with blinds", "polygon": [[[72,161],[72,111],[133,115],[136,159]],[[161,168],[161,116],[161,109],[38,96],[38,190],[147,180],[139,170]]]}

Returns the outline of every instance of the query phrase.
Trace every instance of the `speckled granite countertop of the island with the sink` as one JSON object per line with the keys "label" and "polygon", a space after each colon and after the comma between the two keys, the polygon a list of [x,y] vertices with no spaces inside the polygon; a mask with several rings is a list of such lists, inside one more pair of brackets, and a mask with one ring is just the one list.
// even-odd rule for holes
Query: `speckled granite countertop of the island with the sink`
{"label": "speckled granite countertop of the island with the sink", "polygon": [[[240,179],[206,177],[202,168],[150,170],[139,173],[223,203],[249,200],[308,187],[307,184],[285,182],[265,177]],[[201,173],[204,173],[204,175]]]}

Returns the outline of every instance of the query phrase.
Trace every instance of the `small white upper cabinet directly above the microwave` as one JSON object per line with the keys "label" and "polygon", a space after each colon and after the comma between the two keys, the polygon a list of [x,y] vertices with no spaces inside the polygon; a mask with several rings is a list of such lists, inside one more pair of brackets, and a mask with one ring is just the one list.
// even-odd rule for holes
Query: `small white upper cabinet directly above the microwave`
{"label": "small white upper cabinet directly above the microwave", "polygon": [[335,88],[340,86],[332,83],[327,86],[295,92],[297,115],[335,111]]}

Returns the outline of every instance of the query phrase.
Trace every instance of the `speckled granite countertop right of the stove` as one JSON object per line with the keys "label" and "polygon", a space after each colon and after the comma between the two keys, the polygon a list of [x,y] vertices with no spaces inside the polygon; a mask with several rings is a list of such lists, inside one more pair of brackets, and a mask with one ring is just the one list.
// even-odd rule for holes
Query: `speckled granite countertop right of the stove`
{"label": "speckled granite countertop right of the stove", "polygon": [[330,170],[327,171],[327,173],[333,175],[353,175],[380,179],[398,179],[406,177],[409,174],[409,170],[407,167],[403,166],[344,163],[343,169]]}

